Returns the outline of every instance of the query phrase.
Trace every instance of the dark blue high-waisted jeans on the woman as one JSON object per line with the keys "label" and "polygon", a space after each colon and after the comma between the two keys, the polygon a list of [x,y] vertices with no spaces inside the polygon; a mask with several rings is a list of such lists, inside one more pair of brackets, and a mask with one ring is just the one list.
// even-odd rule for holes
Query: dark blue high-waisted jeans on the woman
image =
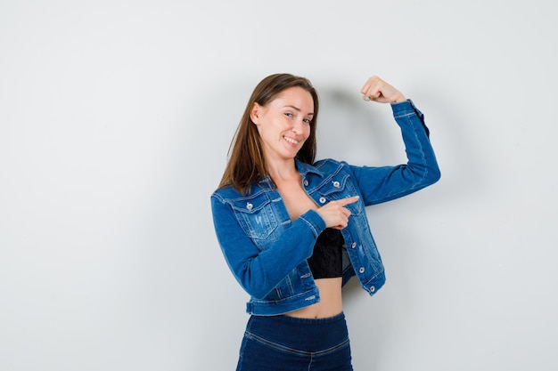
{"label": "dark blue high-waisted jeans on the woman", "polygon": [[352,371],[343,313],[327,319],[251,316],[236,371]]}

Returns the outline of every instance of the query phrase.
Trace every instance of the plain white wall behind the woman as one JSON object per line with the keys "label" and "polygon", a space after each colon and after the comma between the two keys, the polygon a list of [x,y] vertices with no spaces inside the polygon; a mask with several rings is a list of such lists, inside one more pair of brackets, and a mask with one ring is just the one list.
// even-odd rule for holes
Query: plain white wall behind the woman
{"label": "plain white wall behind the woman", "polygon": [[379,75],[442,180],[369,210],[388,283],[349,285],[357,371],[555,370],[557,5],[0,3],[0,369],[232,370],[246,294],[209,195],[258,81],[309,77],[320,157],[405,159]]}

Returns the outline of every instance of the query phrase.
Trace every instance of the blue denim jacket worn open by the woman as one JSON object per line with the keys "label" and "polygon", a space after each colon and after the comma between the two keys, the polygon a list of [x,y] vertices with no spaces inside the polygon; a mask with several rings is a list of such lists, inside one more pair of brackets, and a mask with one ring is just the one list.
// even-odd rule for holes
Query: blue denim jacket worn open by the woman
{"label": "blue denim jacket worn open by the woman", "polygon": [[[373,240],[365,206],[406,196],[439,180],[439,167],[423,114],[411,101],[392,104],[401,128],[408,162],[396,166],[354,166],[324,159],[314,165],[296,160],[304,189],[316,206],[351,196],[348,226],[341,230],[343,285],[357,276],[373,295],[385,282],[382,259]],[[291,220],[273,181],[264,176],[243,196],[232,187],[211,196],[217,240],[234,277],[250,294],[246,311],[276,315],[319,302],[308,267],[325,222],[315,210]]]}

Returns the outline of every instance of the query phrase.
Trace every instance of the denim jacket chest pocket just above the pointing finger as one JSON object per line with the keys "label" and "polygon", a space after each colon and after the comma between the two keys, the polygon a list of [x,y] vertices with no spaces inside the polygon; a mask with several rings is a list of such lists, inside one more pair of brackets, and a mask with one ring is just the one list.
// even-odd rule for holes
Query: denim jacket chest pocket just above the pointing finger
{"label": "denim jacket chest pocket just above the pointing finger", "polygon": [[[324,206],[327,202],[335,201],[341,198],[350,198],[359,196],[360,191],[357,189],[348,173],[336,173],[317,190],[319,195],[318,205]],[[348,204],[347,207],[352,215],[359,215],[364,212],[362,201]]]}

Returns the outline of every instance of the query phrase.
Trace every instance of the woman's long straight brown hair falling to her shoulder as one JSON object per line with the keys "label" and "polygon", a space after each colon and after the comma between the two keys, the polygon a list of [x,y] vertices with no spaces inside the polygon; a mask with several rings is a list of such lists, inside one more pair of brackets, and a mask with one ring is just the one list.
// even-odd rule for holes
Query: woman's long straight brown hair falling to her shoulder
{"label": "woman's long straight brown hair falling to her shoulder", "polygon": [[254,103],[265,106],[268,102],[273,101],[278,94],[294,86],[306,90],[314,100],[314,117],[310,121],[310,135],[297,154],[300,161],[307,164],[314,163],[318,113],[316,89],[305,77],[291,74],[271,75],[259,82],[250,96],[246,109],[244,109],[241,122],[236,129],[233,141],[231,141],[231,147],[228,151],[229,160],[223,178],[219,183],[219,189],[230,185],[242,194],[246,194],[250,190],[251,184],[258,181],[259,177],[267,175],[266,160],[259,140],[258,129],[250,118],[250,111],[254,107]]}

